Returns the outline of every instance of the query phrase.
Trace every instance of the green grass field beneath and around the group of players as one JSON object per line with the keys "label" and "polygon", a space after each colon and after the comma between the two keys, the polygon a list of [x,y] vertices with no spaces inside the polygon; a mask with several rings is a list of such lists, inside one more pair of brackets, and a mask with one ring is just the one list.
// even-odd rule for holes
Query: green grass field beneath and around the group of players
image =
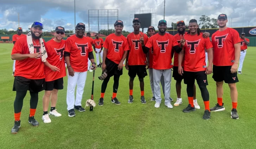
{"label": "green grass field beneath and around the group of players", "polygon": [[[68,117],[66,110],[66,85],[59,91],[57,110],[62,114],[56,118],[50,116],[52,122],[45,124],[41,120],[43,114],[42,97],[39,93],[38,108],[35,118],[38,127],[32,127],[28,122],[30,95],[24,99],[21,112],[21,127],[16,135],[11,134],[14,122],[13,101],[15,92],[12,91],[13,77],[11,50],[13,44],[0,44],[0,148],[255,148],[255,57],[256,47],[249,47],[245,57],[243,74],[238,74],[238,114],[239,119],[230,118],[232,108],[229,87],[224,85],[223,102],[226,110],[212,112],[210,120],[203,120],[203,99],[197,86],[197,99],[201,109],[191,113],[183,113],[182,109],[188,104],[186,86],[182,83],[183,104],[168,109],[162,102],[160,108],[154,107],[149,84],[145,78],[145,97],[147,104],[140,102],[140,88],[137,77],[134,81],[134,102],[128,104],[129,86],[128,71],[123,70],[120,77],[117,98],[122,103],[114,105],[110,102],[113,78],[109,81],[104,106],[96,106],[93,112],[76,112],[73,118]],[[100,98],[102,81],[98,80],[101,69],[95,72],[94,98]],[[217,102],[216,85],[212,75],[208,76],[210,106]],[[84,88],[82,105],[90,98],[92,73],[88,72]],[[163,95],[162,95],[163,97]],[[176,101],[175,81],[171,83],[171,97]],[[172,104],[174,103],[172,102]],[[98,102],[97,102],[98,103]]]}

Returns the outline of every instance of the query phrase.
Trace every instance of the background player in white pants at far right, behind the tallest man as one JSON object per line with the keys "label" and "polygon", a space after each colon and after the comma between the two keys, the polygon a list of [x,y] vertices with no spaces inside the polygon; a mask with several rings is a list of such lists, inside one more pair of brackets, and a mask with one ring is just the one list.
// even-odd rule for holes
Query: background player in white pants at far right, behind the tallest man
{"label": "background player in white pants at far right, behind the tallest man", "polygon": [[248,38],[244,38],[245,33],[241,33],[241,52],[240,52],[240,59],[239,59],[239,68],[238,68],[238,74],[242,74],[242,68],[244,63],[244,57],[246,55],[247,45],[250,43],[250,40]]}

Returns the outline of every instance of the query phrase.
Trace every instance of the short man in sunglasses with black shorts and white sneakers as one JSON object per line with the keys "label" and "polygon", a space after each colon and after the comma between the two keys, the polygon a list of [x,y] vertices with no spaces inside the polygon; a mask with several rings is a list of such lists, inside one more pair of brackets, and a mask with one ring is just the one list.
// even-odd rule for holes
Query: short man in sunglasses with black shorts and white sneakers
{"label": "short man in sunglasses with black shorts and white sneakers", "polygon": [[[58,90],[63,90],[63,77],[66,76],[66,67],[64,57],[64,49],[66,41],[63,40],[65,36],[64,27],[58,26],[54,32],[55,38],[46,42],[47,60],[44,62],[45,84],[46,89],[43,97],[43,121],[50,123],[49,114],[54,116],[61,116],[56,111],[56,104],[58,99]],[[51,110],[48,114],[48,106],[51,97]]]}

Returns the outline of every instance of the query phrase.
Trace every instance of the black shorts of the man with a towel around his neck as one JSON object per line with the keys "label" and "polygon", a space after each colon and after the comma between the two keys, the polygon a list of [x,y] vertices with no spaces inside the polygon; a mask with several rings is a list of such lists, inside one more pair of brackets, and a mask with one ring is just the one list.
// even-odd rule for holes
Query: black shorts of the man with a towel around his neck
{"label": "black shorts of the man with a towel around his neck", "polygon": [[16,76],[13,83],[13,91],[34,93],[45,90],[45,79],[27,79],[21,76]]}

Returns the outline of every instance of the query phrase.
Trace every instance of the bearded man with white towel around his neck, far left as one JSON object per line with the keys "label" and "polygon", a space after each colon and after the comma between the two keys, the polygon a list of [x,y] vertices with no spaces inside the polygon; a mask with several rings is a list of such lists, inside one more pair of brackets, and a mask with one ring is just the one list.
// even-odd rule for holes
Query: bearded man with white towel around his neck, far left
{"label": "bearded man with white towel around his neck, far left", "polygon": [[[17,60],[13,84],[13,91],[16,91],[16,97],[14,100],[15,121],[11,130],[12,134],[17,134],[19,131],[21,109],[28,90],[31,97],[28,122],[31,123],[32,126],[39,125],[34,115],[38,103],[38,92],[45,89],[44,61],[47,58],[47,54],[46,51],[42,51],[41,49],[41,45],[44,49],[44,40],[40,39],[43,33],[43,27],[42,23],[33,22],[30,28],[31,34],[29,33],[19,38],[12,49],[11,58],[12,60]],[[30,49],[34,49],[34,51],[30,51]]]}

